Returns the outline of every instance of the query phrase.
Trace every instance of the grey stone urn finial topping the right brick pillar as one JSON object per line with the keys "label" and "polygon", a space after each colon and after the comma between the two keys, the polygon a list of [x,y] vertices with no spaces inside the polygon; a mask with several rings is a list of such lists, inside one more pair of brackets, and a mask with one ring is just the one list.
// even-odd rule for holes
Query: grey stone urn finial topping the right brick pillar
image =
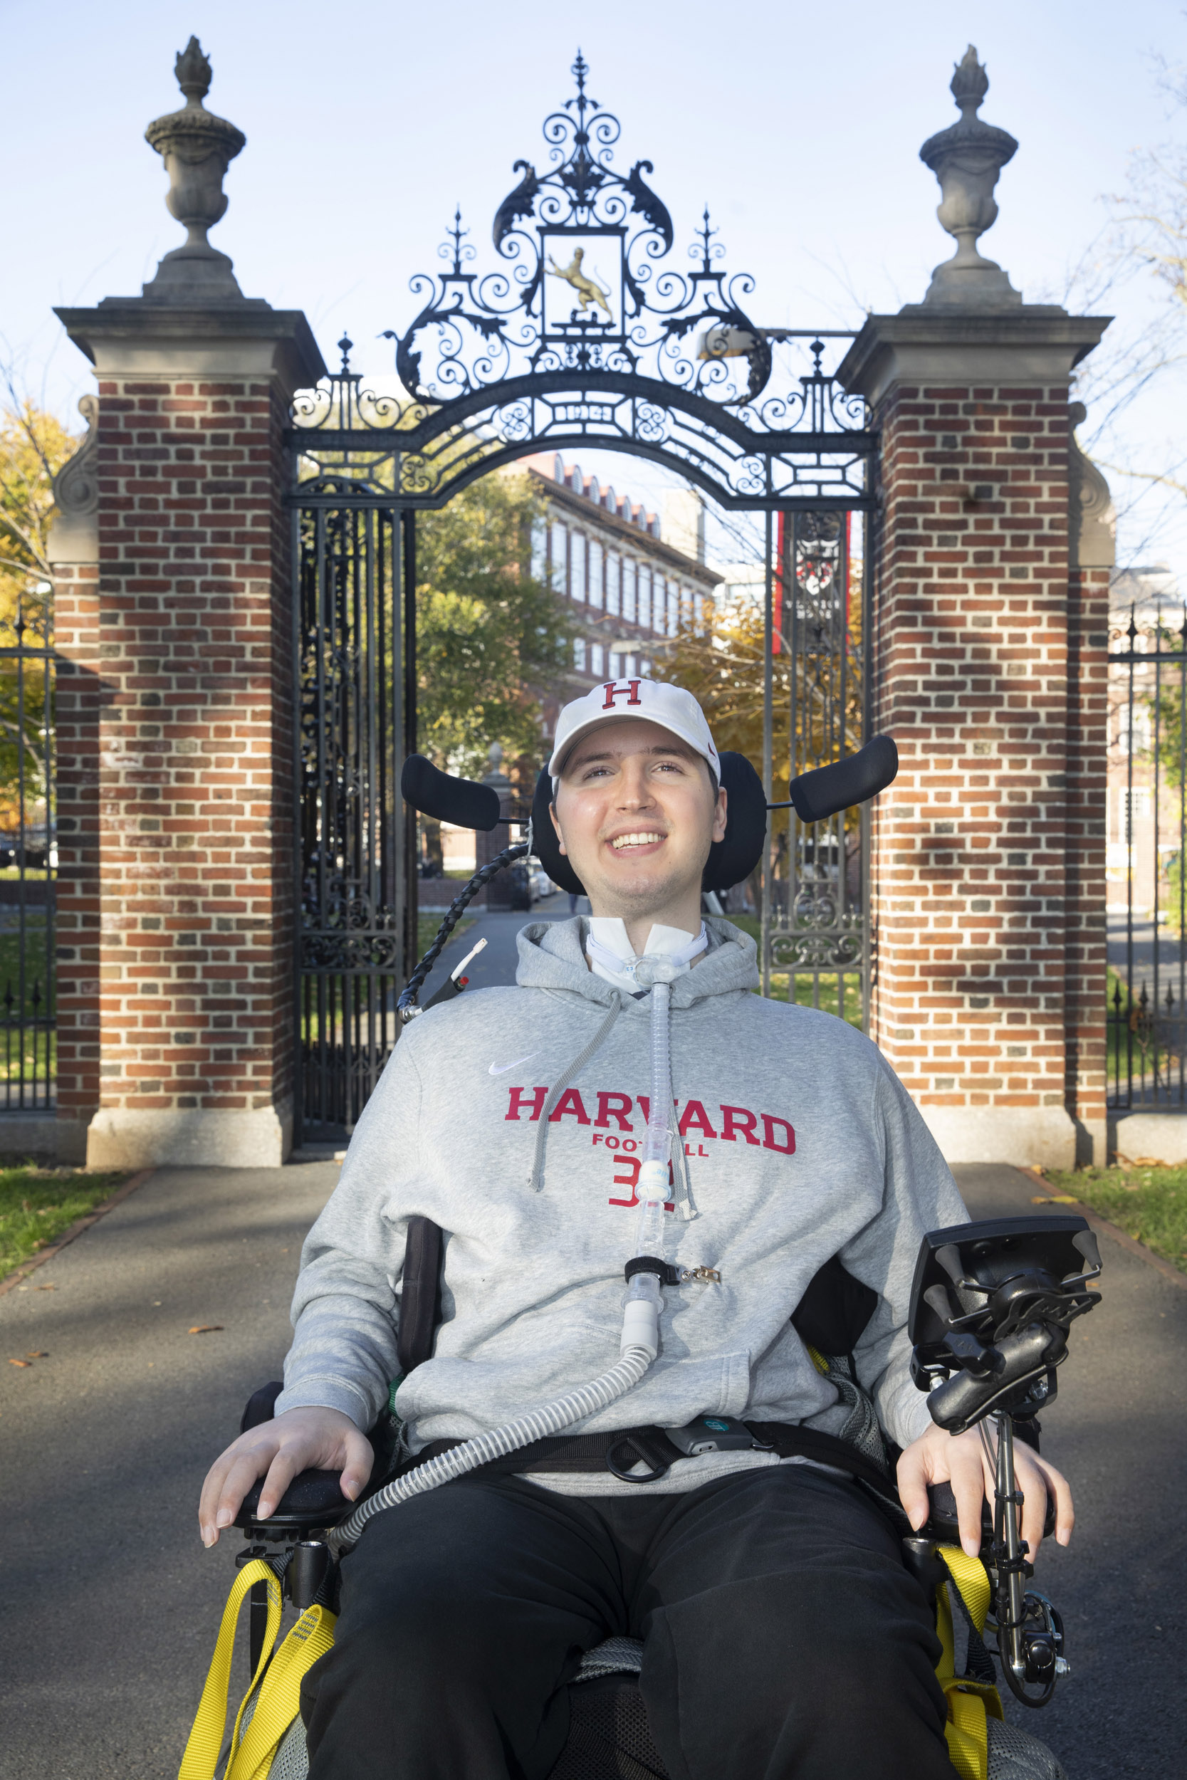
{"label": "grey stone urn finial topping the right brick pillar", "polygon": [[1007,130],[997,130],[977,116],[989,91],[989,77],[968,44],[952,75],[952,98],[961,117],[938,135],[929,135],[918,151],[940,180],[943,201],[936,210],[956,253],[933,272],[924,303],[963,310],[1013,310],[1021,303],[1009,278],[995,260],[977,253],[977,239],[997,221],[993,187],[1018,142]]}

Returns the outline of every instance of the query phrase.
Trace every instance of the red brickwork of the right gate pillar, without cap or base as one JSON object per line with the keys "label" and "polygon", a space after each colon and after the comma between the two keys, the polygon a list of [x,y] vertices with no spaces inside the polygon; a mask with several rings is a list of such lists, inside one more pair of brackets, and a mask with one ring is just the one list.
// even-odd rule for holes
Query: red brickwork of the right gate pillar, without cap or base
{"label": "red brickwork of the right gate pillar, without cap or base", "polygon": [[879,420],[872,1032],[924,1109],[1062,1107],[1068,390],[897,384]]}

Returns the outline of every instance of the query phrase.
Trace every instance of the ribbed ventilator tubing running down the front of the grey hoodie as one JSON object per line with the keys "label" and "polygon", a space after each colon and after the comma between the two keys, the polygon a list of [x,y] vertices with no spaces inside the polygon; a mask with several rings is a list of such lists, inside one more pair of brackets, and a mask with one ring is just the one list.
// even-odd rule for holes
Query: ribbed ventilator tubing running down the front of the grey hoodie
{"label": "ribbed ventilator tubing running down the front of the grey hoodie", "polygon": [[[669,986],[657,983],[651,988],[651,1105],[648,1107],[648,1134],[639,1166],[639,1223],[635,1230],[635,1255],[662,1255],[664,1248],[664,1203],[667,1200],[667,1168],[671,1159],[671,1059],[667,1050],[667,1011]],[[539,1410],[529,1410],[516,1420],[493,1428],[486,1435],[463,1442],[450,1452],[416,1465],[384,1483],[354,1513],[329,1533],[329,1545],[335,1556],[342,1556],[358,1543],[367,1522],[408,1502],[425,1490],[438,1490],[454,1477],[488,1465],[495,1458],[505,1458],[518,1447],[534,1440],[546,1440],[561,1435],[575,1422],[582,1422],[610,1403],[618,1403],[628,1390],[634,1390],[660,1351],[660,1310],[664,1294],[653,1273],[635,1273],[626,1287],[623,1303],[621,1358],[609,1372],[594,1378],[589,1385],[568,1390],[555,1403],[546,1403]]]}

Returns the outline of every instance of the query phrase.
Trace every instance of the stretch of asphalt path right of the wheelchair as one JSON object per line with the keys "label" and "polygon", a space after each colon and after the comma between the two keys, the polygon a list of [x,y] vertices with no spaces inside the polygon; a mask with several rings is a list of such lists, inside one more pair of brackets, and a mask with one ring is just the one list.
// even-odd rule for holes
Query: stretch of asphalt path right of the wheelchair
{"label": "stretch of asphalt path right of the wheelchair", "polygon": [[[972,1218],[1034,1214],[1014,1168],[954,1169]],[[1050,1207],[1059,1210],[1059,1207]],[[1070,1780],[1187,1768],[1187,1290],[1109,1237],[1103,1303],[1071,1330],[1043,1451],[1071,1481],[1077,1531],[1039,1554],[1034,1586],[1064,1614],[1071,1679],[1005,1716],[1055,1750]]]}

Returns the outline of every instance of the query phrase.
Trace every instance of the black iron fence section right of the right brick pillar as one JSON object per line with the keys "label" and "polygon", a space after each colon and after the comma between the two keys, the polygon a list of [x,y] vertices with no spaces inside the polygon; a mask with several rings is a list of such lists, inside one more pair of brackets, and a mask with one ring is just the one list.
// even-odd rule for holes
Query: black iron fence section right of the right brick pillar
{"label": "black iron fence section right of the right brick pillar", "polygon": [[1109,1105],[1187,1104],[1187,609],[1134,605],[1109,651]]}

